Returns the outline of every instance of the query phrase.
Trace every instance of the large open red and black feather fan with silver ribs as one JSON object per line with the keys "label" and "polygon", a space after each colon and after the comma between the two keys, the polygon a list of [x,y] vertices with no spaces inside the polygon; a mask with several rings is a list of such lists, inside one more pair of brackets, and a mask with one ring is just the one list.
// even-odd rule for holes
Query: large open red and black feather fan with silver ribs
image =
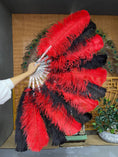
{"label": "large open red and black feather fan with silver ribs", "polygon": [[[40,62],[21,97],[16,120],[17,151],[40,151],[66,141],[91,119],[106,90],[102,38],[87,11],[73,13],[37,37],[30,63]],[[34,44],[33,44],[34,45]],[[30,45],[31,47],[31,45]]]}

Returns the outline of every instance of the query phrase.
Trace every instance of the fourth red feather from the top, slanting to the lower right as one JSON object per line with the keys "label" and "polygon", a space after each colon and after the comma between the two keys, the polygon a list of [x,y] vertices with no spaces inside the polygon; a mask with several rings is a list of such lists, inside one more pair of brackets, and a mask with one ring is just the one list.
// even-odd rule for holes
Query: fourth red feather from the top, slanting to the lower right
{"label": "fourth red feather from the top, slanting to the lower right", "polygon": [[[65,80],[65,79],[64,79]],[[80,81],[80,80],[79,80]],[[79,82],[78,81],[78,82]],[[82,80],[83,81],[83,80]],[[79,92],[81,92],[82,90],[78,91],[78,93],[76,94],[72,94],[70,91],[73,91],[73,86],[72,87],[69,87],[69,86],[66,86],[66,81],[64,82],[64,84],[62,85],[63,88],[61,89],[58,89],[58,84],[57,84],[57,87],[53,87],[53,85],[49,84],[49,83],[46,83],[47,87],[50,89],[50,90],[53,90],[53,91],[56,91],[58,92],[60,95],[63,95],[64,96],[64,100],[66,102],[68,102],[72,107],[76,108],[78,113],[86,113],[86,112],[90,112],[92,110],[94,110],[94,108],[98,105],[98,101],[96,100],[92,100],[90,98],[85,98],[83,96],[80,96],[79,95]],[[78,83],[79,84],[79,83]],[[85,86],[85,89],[83,91],[86,90],[86,83],[83,81],[81,82],[81,86],[84,84]],[[66,87],[65,87],[66,86]],[[77,85],[76,85],[77,87]],[[68,88],[68,90],[66,89]],[[72,89],[73,90],[72,90]],[[79,84],[79,89],[80,89],[80,84]],[[78,88],[77,88],[78,90]],[[65,92],[66,91],[66,92]],[[89,95],[90,96],[90,95]]]}

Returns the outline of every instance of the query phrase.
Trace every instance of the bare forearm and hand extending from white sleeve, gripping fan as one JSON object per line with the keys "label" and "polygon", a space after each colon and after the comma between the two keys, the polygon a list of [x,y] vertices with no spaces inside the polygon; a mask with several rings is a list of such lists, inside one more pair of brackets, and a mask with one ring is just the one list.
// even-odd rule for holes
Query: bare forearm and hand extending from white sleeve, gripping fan
{"label": "bare forearm and hand extending from white sleeve, gripping fan", "polygon": [[38,68],[39,65],[40,65],[40,63],[35,65],[35,62],[32,62],[32,63],[29,64],[27,72],[22,73],[22,74],[20,74],[18,76],[10,78],[11,81],[13,82],[14,86],[17,85],[22,80],[24,80],[26,77],[28,77],[31,74],[33,74],[36,71],[36,69]]}

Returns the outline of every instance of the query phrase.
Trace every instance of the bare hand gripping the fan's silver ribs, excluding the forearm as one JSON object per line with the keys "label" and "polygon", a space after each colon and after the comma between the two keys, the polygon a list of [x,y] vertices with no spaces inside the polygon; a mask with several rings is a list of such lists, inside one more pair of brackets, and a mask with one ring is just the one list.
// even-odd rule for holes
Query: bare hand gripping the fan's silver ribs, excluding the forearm
{"label": "bare hand gripping the fan's silver ribs, excluding the forearm", "polygon": [[28,70],[27,70],[28,75],[33,74],[39,65],[40,65],[40,63],[36,64],[36,62],[30,63],[28,66]]}

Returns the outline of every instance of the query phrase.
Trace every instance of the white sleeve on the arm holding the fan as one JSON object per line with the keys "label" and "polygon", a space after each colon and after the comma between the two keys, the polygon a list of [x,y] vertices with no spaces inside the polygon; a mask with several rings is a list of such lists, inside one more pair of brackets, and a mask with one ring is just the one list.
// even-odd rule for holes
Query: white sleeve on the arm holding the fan
{"label": "white sleeve on the arm holding the fan", "polygon": [[12,88],[14,88],[14,84],[11,79],[0,80],[0,105],[11,98]]}

